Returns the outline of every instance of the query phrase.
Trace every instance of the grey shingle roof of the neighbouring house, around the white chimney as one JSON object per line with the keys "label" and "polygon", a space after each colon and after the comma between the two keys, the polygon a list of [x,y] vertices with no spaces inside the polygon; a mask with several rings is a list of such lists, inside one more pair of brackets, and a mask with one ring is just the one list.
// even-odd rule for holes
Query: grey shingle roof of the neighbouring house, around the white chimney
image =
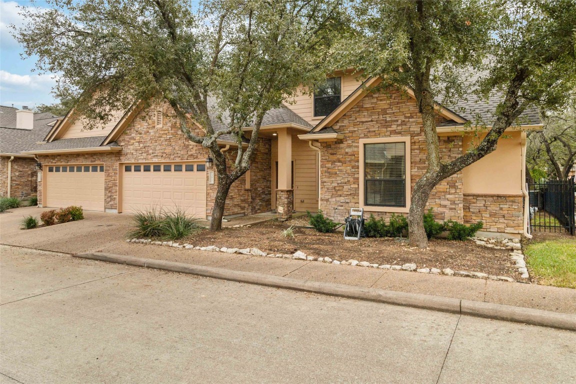
{"label": "grey shingle roof of the neighbouring house, around the white chimney", "polygon": [[51,130],[48,124],[54,123],[58,116],[49,112],[34,114],[32,130],[16,128],[16,112],[18,108],[0,106],[0,153],[21,154],[41,142]]}

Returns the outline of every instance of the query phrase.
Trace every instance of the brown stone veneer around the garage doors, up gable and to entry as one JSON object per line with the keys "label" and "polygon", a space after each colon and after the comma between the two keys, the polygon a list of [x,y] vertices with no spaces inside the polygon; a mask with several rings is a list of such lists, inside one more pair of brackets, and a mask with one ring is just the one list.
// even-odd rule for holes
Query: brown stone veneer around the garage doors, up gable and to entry
{"label": "brown stone veneer around the garage doors, up gable and to entry", "polygon": [[[162,109],[164,113],[162,127],[156,127],[155,112]],[[199,134],[200,132],[198,132]],[[253,162],[268,162],[270,164],[270,144],[266,141],[259,143],[258,149],[266,150],[268,153],[256,151]],[[205,161],[208,157],[208,150],[201,145],[192,143],[180,131],[175,113],[168,103],[153,105],[149,109],[142,111],[135,117],[130,126],[126,128],[117,140],[118,145],[123,149],[118,153],[96,153],[96,154],[71,154],[71,155],[42,155],[40,162],[48,164],[74,164],[74,163],[104,163],[105,194],[104,207],[107,209],[118,209],[118,163],[119,162],[154,162],[154,161]],[[235,151],[230,152],[233,159]],[[229,163],[230,164],[230,163]],[[207,171],[209,171],[208,169]],[[212,170],[215,170],[214,168]],[[206,214],[211,214],[214,197],[218,188],[218,177],[214,175],[214,184],[208,184],[206,194]],[[251,172],[256,180],[266,180],[266,175],[262,175],[257,166],[255,172]],[[269,174],[268,170],[268,174]],[[269,176],[268,176],[269,177]],[[270,181],[267,181],[268,187]],[[39,182],[39,194],[41,195],[41,182]],[[252,208],[247,201],[245,191],[245,175],[240,177],[230,188],[226,202],[225,215],[244,214],[251,212]],[[259,185],[259,182],[256,182]],[[270,191],[264,195],[264,199],[270,200]],[[41,200],[40,200],[41,201]],[[262,204],[263,206],[266,203]],[[259,208],[263,209],[263,208]],[[270,203],[264,210],[270,210]]]}

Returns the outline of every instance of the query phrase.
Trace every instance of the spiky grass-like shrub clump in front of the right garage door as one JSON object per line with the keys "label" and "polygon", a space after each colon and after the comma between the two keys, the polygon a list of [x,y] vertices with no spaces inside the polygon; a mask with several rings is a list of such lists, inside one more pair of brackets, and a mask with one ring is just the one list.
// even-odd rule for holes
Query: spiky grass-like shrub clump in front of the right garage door
{"label": "spiky grass-like shrub clump in front of the right garage door", "polygon": [[160,238],[177,240],[202,229],[198,219],[187,215],[184,210],[158,210],[152,207],[146,211],[137,211],[132,215],[130,238]]}

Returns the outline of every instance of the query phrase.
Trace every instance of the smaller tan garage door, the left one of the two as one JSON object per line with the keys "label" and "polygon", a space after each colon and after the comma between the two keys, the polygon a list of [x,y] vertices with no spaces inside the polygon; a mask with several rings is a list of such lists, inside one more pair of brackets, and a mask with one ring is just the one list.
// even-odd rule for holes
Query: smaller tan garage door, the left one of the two
{"label": "smaller tan garage door, the left one of the two", "polygon": [[46,206],[81,206],[89,211],[104,211],[104,165],[48,166]]}

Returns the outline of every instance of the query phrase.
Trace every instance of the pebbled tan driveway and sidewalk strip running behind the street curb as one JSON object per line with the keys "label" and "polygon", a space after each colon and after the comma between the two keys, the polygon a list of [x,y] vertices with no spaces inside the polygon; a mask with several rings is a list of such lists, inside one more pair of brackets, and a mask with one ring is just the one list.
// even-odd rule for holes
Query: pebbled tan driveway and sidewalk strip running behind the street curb
{"label": "pebbled tan driveway and sidewalk strip running behind the street curb", "polygon": [[129,215],[86,212],[86,219],[79,222],[30,231],[18,229],[22,216],[39,216],[41,211],[40,208],[18,208],[9,214],[0,215],[0,242],[64,253],[107,252],[158,258],[295,279],[576,314],[576,290],[570,288],[131,244],[124,241],[124,235],[130,226]]}

